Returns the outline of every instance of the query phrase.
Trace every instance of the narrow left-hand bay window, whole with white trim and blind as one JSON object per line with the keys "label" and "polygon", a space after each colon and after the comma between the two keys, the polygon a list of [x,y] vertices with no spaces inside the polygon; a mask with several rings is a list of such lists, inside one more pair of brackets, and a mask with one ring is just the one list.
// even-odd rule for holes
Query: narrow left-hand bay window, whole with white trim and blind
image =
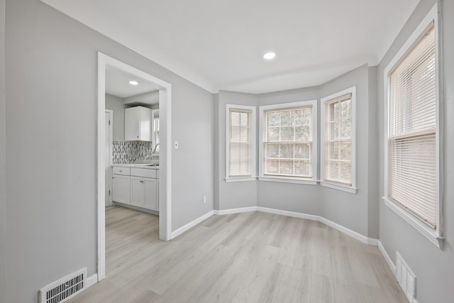
{"label": "narrow left-hand bay window, whole with white trim and blind", "polygon": [[226,181],[255,180],[255,106],[226,106]]}

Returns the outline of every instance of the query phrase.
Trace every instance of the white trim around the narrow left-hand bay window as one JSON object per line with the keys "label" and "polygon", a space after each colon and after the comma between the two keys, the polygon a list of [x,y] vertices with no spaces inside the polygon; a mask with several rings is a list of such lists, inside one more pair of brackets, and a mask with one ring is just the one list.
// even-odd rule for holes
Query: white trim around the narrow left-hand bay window
{"label": "white trim around the narrow left-hand bay window", "polygon": [[[250,111],[250,176],[229,176],[230,172],[230,110]],[[226,104],[226,182],[255,181],[257,177],[257,108],[256,106]]]}

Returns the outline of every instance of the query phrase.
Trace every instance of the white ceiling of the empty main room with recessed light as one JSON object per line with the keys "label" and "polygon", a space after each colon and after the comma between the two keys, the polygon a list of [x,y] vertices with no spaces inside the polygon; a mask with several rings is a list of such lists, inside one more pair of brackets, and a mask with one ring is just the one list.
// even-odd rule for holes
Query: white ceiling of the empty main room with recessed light
{"label": "white ceiling of the empty main room with recessed light", "polygon": [[[322,84],[377,65],[419,0],[41,0],[210,92]],[[265,62],[261,55],[275,50]]]}

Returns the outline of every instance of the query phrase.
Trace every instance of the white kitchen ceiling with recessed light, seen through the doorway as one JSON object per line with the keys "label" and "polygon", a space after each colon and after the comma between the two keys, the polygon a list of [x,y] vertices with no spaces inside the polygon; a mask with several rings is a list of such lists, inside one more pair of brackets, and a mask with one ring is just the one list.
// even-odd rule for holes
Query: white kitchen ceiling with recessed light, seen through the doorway
{"label": "white kitchen ceiling with recessed light, seen through the doorway", "polygon": [[[138,84],[129,84],[131,80],[138,82]],[[123,70],[118,70],[109,65],[106,66],[106,94],[126,98],[144,94],[145,92],[153,92],[157,89],[159,89],[159,87],[157,87],[156,84],[146,82]]]}

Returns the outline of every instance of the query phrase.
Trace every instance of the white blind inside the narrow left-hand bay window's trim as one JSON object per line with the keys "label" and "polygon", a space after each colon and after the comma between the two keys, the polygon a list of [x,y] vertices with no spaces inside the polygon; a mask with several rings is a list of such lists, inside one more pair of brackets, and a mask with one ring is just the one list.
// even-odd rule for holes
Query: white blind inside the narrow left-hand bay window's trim
{"label": "white blind inside the narrow left-hand bay window's trim", "polygon": [[250,177],[251,114],[244,109],[229,109],[229,172],[228,177]]}

